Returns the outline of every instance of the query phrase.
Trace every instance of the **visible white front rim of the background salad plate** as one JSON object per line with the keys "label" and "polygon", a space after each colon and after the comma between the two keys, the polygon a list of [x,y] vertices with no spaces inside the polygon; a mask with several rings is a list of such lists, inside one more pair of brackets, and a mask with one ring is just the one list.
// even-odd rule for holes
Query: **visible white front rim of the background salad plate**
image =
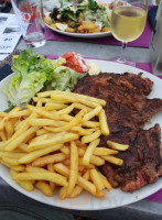
{"label": "visible white front rim of the background salad plate", "polygon": [[108,31],[108,32],[100,32],[100,33],[93,33],[93,34],[80,34],[80,33],[71,33],[71,32],[65,32],[65,31],[60,31],[57,29],[53,29],[52,26],[50,26],[48,24],[45,23],[45,25],[60,33],[60,34],[64,34],[64,35],[67,35],[67,36],[74,36],[74,37],[80,37],[80,38],[98,38],[98,37],[104,37],[104,36],[109,36],[111,35],[111,32]]}

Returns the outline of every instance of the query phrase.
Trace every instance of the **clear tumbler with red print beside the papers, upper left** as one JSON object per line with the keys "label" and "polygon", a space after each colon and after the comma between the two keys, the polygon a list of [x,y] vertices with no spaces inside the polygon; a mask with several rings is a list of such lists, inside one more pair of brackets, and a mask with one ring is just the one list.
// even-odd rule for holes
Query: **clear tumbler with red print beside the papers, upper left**
{"label": "clear tumbler with red print beside the papers, upper left", "polygon": [[43,46],[45,34],[42,0],[11,0],[11,3],[26,45]]}

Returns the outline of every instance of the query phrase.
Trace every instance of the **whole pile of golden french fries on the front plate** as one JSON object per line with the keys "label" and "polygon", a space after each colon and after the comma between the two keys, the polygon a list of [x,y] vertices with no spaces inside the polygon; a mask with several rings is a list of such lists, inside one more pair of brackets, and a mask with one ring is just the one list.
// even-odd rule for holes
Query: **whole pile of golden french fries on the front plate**
{"label": "whole pile of golden french fries on the front plate", "polygon": [[97,147],[99,136],[109,134],[105,100],[55,90],[37,94],[33,102],[0,112],[0,163],[10,168],[12,179],[47,197],[58,188],[61,199],[84,189],[104,198],[111,185],[96,167],[106,161],[122,165],[114,154],[128,148],[109,141],[110,148]]}

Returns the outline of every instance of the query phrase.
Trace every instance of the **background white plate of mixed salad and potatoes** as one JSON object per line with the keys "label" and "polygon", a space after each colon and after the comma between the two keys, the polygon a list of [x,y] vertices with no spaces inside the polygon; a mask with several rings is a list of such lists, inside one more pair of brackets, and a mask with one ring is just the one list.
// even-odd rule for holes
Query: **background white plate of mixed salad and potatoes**
{"label": "background white plate of mixed salad and potatoes", "polygon": [[46,1],[44,9],[45,25],[57,33],[86,38],[111,34],[111,0]]}

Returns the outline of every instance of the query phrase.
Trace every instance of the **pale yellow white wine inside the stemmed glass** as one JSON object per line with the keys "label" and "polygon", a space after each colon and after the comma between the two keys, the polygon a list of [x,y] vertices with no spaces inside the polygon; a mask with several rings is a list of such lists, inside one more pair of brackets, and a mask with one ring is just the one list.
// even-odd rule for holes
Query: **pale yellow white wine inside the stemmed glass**
{"label": "pale yellow white wine inside the stemmed glass", "polygon": [[138,7],[117,7],[111,14],[112,35],[122,42],[138,38],[145,26],[147,11]]}

